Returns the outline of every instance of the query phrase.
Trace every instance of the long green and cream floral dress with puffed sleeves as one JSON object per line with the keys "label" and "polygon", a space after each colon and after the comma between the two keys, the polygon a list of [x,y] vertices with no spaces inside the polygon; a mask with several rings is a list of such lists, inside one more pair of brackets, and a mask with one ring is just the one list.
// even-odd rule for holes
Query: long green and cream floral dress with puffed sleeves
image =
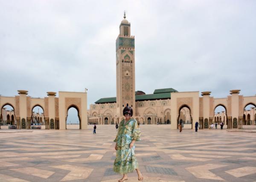
{"label": "long green and cream floral dress with puffed sleeves", "polygon": [[136,119],[125,119],[120,122],[119,130],[114,142],[117,143],[116,159],[113,171],[120,174],[131,173],[139,167],[135,157],[135,145],[130,149],[132,140],[140,140],[140,128]]}

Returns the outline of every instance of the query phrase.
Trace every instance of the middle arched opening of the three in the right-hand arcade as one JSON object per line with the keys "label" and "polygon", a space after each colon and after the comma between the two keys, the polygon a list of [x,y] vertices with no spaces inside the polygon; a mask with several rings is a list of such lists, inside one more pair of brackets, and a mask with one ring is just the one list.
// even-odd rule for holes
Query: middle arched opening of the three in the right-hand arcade
{"label": "middle arched opening of the three in the right-hand arcade", "polygon": [[210,125],[214,125],[215,128],[215,123],[217,123],[217,128],[221,128],[220,124],[221,122],[223,122],[224,126],[223,128],[231,128],[232,126],[232,121],[230,119],[230,124],[228,124],[227,122],[227,109],[224,105],[219,104],[216,105],[216,107],[214,108],[214,119],[212,121],[212,119],[210,119],[209,121],[209,127]]}

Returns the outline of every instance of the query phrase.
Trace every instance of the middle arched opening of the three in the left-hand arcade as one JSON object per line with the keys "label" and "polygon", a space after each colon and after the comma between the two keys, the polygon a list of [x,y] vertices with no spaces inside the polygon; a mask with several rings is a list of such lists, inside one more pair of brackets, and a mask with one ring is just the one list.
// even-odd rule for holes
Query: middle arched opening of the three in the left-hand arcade
{"label": "middle arched opening of the three in the left-hand arcade", "polygon": [[44,108],[41,105],[34,105],[31,113],[31,120],[27,121],[28,129],[49,129],[48,125],[45,125]]}

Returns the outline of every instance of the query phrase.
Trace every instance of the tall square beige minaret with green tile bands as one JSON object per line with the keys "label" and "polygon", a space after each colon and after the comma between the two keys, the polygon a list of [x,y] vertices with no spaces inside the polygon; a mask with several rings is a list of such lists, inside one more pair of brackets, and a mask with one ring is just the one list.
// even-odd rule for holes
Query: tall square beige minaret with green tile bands
{"label": "tall square beige minaret with green tile bands", "polygon": [[116,39],[116,115],[122,117],[122,111],[128,104],[135,116],[135,56],[134,36],[131,36],[131,24],[122,20]]}

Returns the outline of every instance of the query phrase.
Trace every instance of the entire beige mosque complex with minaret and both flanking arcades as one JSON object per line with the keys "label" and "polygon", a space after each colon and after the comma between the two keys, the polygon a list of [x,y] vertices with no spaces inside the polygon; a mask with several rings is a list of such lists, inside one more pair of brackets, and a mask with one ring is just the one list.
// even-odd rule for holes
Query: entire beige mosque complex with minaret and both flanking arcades
{"label": "entire beige mosque complex with minaret and both flanking arcades", "polygon": [[[179,92],[174,88],[155,89],[152,94],[136,91],[135,38],[131,35],[131,23],[124,16],[116,39],[116,97],[100,98],[87,109],[87,89],[59,91],[58,97],[56,92],[47,92],[44,98],[30,97],[28,91],[18,90],[19,95],[15,97],[0,95],[0,124],[7,121],[17,129],[33,129],[34,124],[43,123],[45,129],[67,129],[68,110],[73,107],[78,111],[79,129],[87,129],[87,125],[93,123],[119,123],[124,119],[123,108],[129,105],[133,108],[133,118],[140,124],[166,124],[170,129],[177,129],[180,121],[189,128],[194,128],[198,121],[202,129],[207,129],[217,119],[228,129],[242,128],[244,123],[255,125],[256,96],[244,97],[239,92],[230,90],[227,97],[214,98],[210,91],[203,91],[201,95],[199,91]],[[6,111],[6,105],[10,105],[12,111]],[[225,111],[215,113],[220,105]],[[245,111],[248,105],[253,105],[251,111]],[[36,106],[43,109],[40,116],[33,113]],[[250,122],[246,121],[248,117]]]}

